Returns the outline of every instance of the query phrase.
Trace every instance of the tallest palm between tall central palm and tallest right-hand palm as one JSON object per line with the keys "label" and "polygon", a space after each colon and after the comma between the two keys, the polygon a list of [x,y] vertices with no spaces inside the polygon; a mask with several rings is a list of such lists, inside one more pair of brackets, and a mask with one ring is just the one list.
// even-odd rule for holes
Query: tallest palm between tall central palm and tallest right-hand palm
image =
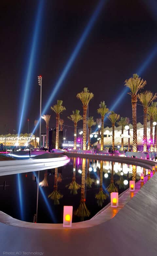
{"label": "tallest palm between tall central palm and tallest right-hand palm", "polygon": [[104,149],[104,117],[107,113],[109,113],[109,109],[105,105],[105,101],[101,101],[99,104],[99,108],[97,109],[97,113],[101,115],[101,148]]}

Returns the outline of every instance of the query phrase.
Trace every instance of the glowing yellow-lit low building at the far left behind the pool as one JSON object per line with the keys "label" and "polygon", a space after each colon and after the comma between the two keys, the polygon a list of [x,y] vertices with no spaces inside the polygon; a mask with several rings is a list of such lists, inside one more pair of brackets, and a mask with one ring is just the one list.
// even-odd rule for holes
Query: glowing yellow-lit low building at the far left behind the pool
{"label": "glowing yellow-lit low building at the far left behind the pool", "polygon": [[[31,137],[30,137],[31,136]],[[36,138],[37,140],[37,144],[39,146],[39,137]],[[6,141],[6,143],[5,143]],[[3,143],[3,146],[6,144],[6,147],[14,147],[17,145],[18,142],[18,146],[19,147],[24,147],[26,146],[26,143],[29,141],[28,144],[31,144],[32,146],[34,146],[34,142],[35,142],[35,135],[32,134],[20,134],[19,138],[18,138],[18,134],[7,134],[5,135],[0,135],[0,143]]]}

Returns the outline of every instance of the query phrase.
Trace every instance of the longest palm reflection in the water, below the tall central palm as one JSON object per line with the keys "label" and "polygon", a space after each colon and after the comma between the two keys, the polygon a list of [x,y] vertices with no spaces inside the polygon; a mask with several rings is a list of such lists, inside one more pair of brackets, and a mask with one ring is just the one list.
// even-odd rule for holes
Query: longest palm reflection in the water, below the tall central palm
{"label": "longest palm reflection in the water, below the tall central palm", "polygon": [[75,215],[84,220],[84,217],[89,217],[90,212],[85,204],[85,177],[86,177],[86,159],[82,159],[82,175],[81,175],[81,200],[78,209],[75,211]]}

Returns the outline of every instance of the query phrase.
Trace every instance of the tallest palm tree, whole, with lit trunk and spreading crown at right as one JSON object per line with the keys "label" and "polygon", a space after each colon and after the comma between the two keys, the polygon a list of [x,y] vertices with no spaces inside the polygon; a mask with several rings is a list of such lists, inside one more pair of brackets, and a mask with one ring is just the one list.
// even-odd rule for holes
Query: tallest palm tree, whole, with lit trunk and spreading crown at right
{"label": "tallest palm tree, whole, with lit trunk and spreading crown at right", "polygon": [[137,152],[137,118],[136,118],[136,106],[137,106],[137,94],[146,85],[146,80],[141,80],[137,74],[133,74],[132,77],[125,80],[125,86],[130,89],[131,105],[132,105],[132,124],[133,124],[133,143],[132,150]]}

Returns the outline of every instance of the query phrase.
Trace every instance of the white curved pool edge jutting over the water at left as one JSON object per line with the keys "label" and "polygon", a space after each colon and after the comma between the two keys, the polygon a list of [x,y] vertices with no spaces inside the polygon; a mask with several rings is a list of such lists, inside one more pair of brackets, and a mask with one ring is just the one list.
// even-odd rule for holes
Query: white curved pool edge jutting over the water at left
{"label": "white curved pool edge jutting over the water at left", "polygon": [[56,168],[67,164],[69,161],[70,159],[67,156],[0,161],[0,176]]}

